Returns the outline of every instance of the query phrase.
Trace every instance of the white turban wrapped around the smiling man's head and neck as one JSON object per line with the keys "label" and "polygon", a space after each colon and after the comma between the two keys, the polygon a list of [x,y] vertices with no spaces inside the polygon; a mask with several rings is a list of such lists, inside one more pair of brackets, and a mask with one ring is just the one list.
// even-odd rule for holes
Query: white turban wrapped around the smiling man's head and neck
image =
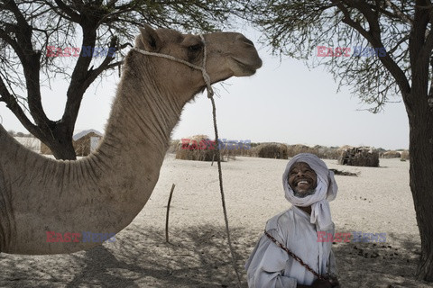
{"label": "white turban wrapped around the smiling man's head and neck", "polygon": [[[289,184],[289,172],[291,166],[296,162],[305,162],[311,169],[318,175],[318,185],[315,193],[308,195],[304,198],[296,197]],[[310,153],[300,153],[297,156],[291,158],[290,162],[286,166],[286,170],[282,175],[282,186],[286,199],[295,206],[307,207],[311,206],[311,223],[318,223],[320,230],[330,229],[332,225],[331,210],[329,202],[336,199],[336,191],[338,186],[336,185],[336,179],[334,178],[334,172],[327,169],[327,165],[319,157]]]}

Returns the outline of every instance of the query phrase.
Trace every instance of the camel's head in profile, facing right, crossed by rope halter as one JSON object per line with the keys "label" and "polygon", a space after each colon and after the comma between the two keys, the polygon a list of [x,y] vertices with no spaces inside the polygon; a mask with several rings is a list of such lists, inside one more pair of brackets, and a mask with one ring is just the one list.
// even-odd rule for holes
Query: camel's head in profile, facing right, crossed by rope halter
{"label": "camel's head in profile, facing right, crossed by rope halter", "polygon": [[[204,45],[206,45],[206,70],[212,84],[231,76],[252,76],[262,66],[253,42],[235,32],[214,32],[204,34],[205,43],[199,35],[181,34],[170,29],[153,30],[145,25],[135,40],[135,47],[153,53],[170,55],[202,67]],[[137,53],[138,54],[138,53]],[[143,58],[139,55],[136,57]],[[152,76],[159,85],[170,83],[174,94],[188,102],[206,87],[202,72],[179,62],[148,56],[146,63],[152,67]]]}

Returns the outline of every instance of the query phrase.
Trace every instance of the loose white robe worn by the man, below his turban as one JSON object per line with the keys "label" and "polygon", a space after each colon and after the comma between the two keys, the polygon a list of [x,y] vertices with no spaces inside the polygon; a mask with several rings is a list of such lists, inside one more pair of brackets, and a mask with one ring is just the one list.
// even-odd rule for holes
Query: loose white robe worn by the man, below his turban
{"label": "loose white robe worn by the man, below his turban", "polygon": [[[307,212],[292,206],[268,220],[266,231],[319,275],[336,275],[332,241],[318,242],[318,226],[310,223]],[[334,235],[334,231],[332,223],[327,233]],[[264,234],[247,260],[245,269],[250,288],[296,288],[297,284],[311,285],[317,279]]]}

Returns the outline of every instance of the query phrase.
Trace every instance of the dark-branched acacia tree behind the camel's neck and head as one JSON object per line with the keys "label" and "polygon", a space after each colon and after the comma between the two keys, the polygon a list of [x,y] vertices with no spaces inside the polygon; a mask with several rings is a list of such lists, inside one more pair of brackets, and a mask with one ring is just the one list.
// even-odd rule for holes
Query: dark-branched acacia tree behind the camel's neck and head
{"label": "dark-branched acacia tree behind the camel's neck and head", "polygon": [[[214,31],[229,11],[225,0],[1,0],[0,102],[56,158],[75,159],[72,134],[83,95],[98,76],[122,64],[138,26]],[[66,78],[69,87],[63,115],[52,121],[41,104],[41,85],[55,77]]]}

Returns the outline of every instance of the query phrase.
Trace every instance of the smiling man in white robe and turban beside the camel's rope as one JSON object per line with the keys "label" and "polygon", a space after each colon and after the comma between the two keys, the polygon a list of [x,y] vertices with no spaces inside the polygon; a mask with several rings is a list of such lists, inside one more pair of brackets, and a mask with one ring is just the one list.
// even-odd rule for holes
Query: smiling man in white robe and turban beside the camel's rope
{"label": "smiling man in white robe and turban beside the camel's rope", "polygon": [[318,231],[334,235],[329,209],[338,189],[334,173],[316,155],[302,153],[286,166],[282,185],[292,206],[266,223],[245,265],[249,287],[339,287],[332,242],[318,242]]}

